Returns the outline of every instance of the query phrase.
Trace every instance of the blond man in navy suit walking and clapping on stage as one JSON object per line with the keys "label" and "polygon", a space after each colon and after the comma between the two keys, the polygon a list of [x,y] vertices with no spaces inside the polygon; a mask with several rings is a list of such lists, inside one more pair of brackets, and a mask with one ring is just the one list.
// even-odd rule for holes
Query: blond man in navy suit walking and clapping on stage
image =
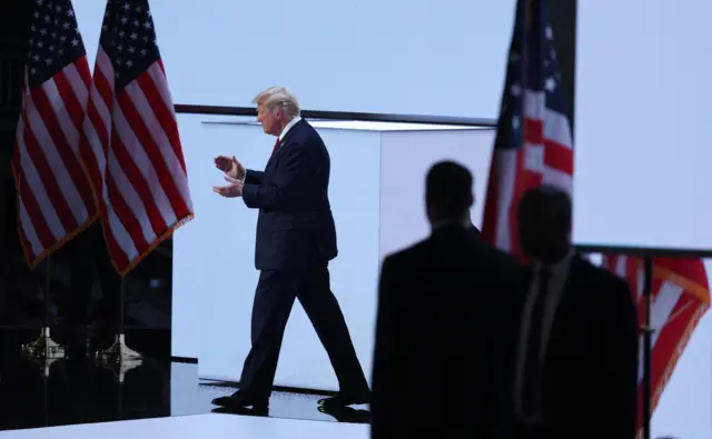
{"label": "blond man in navy suit walking and clapping on stage", "polygon": [[255,102],[265,132],[277,137],[265,170],[246,170],[235,158],[215,160],[230,182],[215,191],[241,197],[248,208],[259,209],[255,266],[260,276],[253,305],[253,347],[240,390],[214,403],[255,409],[268,405],[295,298],[314,325],[339,382],[339,393],[320,402],[366,403],[368,383],[329,287],[328,261],[337,249],[328,199],[328,151],[317,131],[299,117],[298,102],[286,89],[267,89]]}

